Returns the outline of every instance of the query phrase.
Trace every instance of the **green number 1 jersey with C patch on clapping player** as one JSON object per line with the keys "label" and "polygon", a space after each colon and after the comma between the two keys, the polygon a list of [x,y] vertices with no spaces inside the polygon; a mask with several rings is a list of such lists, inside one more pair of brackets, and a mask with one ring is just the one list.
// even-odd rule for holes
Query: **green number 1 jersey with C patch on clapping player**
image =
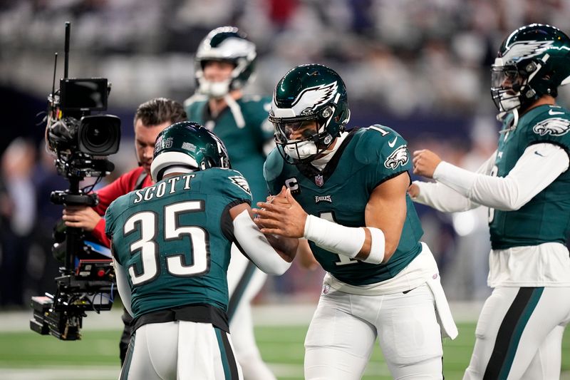
{"label": "green number 1 jersey with C patch on clapping player", "polygon": [[[363,227],[365,209],[373,190],[390,178],[410,170],[406,141],[394,130],[372,125],[354,128],[331,161],[317,170],[310,164],[284,163],[275,149],[268,156],[264,175],[272,194],[283,185],[310,215],[347,227]],[[408,175],[408,174],[405,174]],[[398,249],[385,264],[374,265],[337,255],[309,241],[316,260],[337,279],[351,285],[373,284],[393,278],[420,252],[423,230],[413,202],[408,207]]]}

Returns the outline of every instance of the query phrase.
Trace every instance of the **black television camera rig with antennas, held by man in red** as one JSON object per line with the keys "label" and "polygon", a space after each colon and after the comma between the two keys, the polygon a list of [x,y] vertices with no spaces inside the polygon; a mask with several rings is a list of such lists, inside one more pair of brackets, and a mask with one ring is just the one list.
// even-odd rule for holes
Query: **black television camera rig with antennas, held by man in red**
{"label": "black television camera rig with antennas, held by man in red", "polygon": [[[110,83],[106,78],[68,78],[68,52],[71,24],[66,23],[64,78],[48,96],[46,144],[55,153],[58,175],[69,181],[68,190],[51,192],[57,205],[98,204],[94,193],[80,188],[81,180],[96,178],[97,183],[114,169],[108,155],[117,153],[120,119],[114,115],[91,115],[107,109]],[[93,188],[93,186],[91,187]],[[55,278],[56,292],[31,297],[33,318],[30,328],[62,340],[81,339],[86,312],[110,310],[115,293],[115,273],[108,249],[86,240],[81,228],[54,228],[54,257],[63,262]]]}

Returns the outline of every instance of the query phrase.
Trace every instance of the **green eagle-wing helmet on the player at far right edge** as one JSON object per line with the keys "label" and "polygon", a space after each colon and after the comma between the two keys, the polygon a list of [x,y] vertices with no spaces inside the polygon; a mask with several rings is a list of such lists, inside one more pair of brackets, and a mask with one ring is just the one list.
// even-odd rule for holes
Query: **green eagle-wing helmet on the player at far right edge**
{"label": "green eagle-wing helmet on the player at far right edge", "polygon": [[502,43],[491,69],[491,94],[502,113],[526,109],[570,83],[570,38],[554,26],[530,24]]}

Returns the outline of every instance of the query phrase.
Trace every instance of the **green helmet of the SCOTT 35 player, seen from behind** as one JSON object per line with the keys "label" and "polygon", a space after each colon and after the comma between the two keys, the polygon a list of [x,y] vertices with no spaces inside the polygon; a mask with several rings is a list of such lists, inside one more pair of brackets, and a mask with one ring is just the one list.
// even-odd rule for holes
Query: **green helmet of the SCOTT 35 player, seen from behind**
{"label": "green helmet of the SCOTT 35 player, seen from behind", "polygon": [[155,182],[160,181],[165,170],[172,167],[192,172],[231,165],[226,147],[217,135],[198,123],[181,121],[158,134],[150,175]]}

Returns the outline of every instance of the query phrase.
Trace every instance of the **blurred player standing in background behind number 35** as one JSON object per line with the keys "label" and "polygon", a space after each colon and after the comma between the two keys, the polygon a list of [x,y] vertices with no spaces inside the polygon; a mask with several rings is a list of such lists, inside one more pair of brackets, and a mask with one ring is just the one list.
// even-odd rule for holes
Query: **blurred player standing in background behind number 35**
{"label": "blurred player standing in background behind number 35", "polygon": [[[222,139],[232,168],[249,183],[254,204],[266,198],[263,163],[266,151],[274,147],[273,127],[267,120],[271,98],[243,93],[253,78],[256,57],[254,43],[237,28],[222,26],[210,31],[195,56],[197,93],[184,103],[188,120],[204,125]],[[235,247],[232,252],[228,317],[237,359],[245,379],[275,379],[257,349],[250,304],[263,287],[266,274]]]}

